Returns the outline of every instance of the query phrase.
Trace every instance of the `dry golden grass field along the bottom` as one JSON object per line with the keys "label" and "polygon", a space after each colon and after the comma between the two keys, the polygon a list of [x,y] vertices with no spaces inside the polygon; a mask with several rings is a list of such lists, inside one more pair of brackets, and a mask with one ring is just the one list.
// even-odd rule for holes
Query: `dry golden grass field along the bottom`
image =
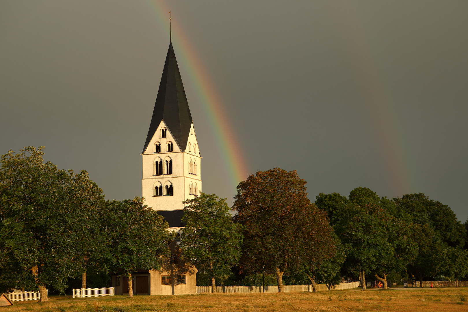
{"label": "dry golden grass field along the bottom", "polygon": [[17,302],[10,311],[468,311],[468,288],[337,290],[285,294],[202,294],[184,296],[112,296],[73,299],[52,296],[50,302]]}

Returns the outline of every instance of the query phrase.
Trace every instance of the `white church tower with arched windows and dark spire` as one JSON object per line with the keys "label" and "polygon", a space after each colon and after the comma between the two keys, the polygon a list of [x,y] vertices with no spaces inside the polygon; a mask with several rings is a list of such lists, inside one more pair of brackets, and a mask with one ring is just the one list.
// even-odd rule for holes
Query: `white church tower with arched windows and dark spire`
{"label": "white church tower with arched windows and dark spire", "polygon": [[180,227],[182,201],[201,192],[201,157],[172,43],[141,155],[145,204]]}

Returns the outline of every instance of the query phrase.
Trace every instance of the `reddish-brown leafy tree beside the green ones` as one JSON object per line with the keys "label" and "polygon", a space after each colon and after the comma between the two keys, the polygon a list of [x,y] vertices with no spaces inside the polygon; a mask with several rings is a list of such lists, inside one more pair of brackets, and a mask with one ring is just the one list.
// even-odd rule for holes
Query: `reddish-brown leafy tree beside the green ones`
{"label": "reddish-brown leafy tree beside the green ones", "polygon": [[321,263],[335,254],[326,214],[307,198],[297,172],[258,171],[237,187],[233,210],[243,225],[241,269],[275,273],[283,292],[283,273]]}

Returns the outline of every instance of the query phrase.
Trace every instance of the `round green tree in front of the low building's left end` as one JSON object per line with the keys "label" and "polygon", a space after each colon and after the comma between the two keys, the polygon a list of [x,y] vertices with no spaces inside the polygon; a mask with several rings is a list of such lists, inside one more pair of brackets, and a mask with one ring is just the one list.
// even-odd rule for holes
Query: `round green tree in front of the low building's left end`
{"label": "round green tree in front of the low building's left end", "polygon": [[159,270],[170,256],[168,244],[174,234],[167,231],[168,223],[160,215],[143,205],[143,198],[108,202],[103,215],[105,257],[111,268],[128,278],[128,294],[133,297],[132,272]]}

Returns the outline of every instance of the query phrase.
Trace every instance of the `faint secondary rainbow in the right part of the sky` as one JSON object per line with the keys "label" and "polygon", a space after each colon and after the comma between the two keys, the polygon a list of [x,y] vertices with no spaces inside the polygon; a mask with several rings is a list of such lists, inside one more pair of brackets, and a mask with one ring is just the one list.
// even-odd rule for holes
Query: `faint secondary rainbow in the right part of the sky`
{"label": "faint secondary rainbow in the right part of the sky", "polygon": [[395,196],[414,192],[414,174],[405,153],[401,118],[373,61],[372,49],[359,23],[352,2],[327,2],[335,20],[332,21],[344,51],[349,58],[355,88],[361,96],[363,109],[374,133],[383,178],[387,189]]}

